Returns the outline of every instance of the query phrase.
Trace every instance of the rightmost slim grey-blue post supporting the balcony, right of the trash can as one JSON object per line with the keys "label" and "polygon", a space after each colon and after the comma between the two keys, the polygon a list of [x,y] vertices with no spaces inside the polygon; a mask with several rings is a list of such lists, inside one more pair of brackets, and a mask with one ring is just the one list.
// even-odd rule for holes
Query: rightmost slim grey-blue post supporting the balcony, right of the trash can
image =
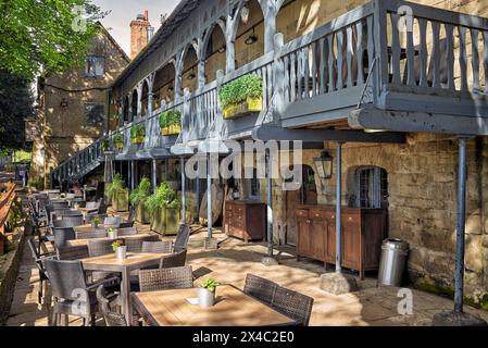
{"label": "rightmost slim grey-blue post supporting the balcony, right of the trash can", "polygon": [[464,298],[464,232],[466,214],[466,138],[459,139],[458,227],[455,235],[454,312],[463,312]]}

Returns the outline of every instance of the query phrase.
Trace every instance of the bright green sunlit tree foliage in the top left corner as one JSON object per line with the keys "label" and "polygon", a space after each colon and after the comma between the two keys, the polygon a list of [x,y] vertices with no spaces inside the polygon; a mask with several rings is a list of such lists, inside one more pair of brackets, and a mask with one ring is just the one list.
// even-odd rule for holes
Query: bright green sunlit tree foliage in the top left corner
{"label": "bright green sunlit tree foliage in the top left corner", "polygon": [[0,69],[33,79],[80,66],[107,12],[91,0],[0,0]]}

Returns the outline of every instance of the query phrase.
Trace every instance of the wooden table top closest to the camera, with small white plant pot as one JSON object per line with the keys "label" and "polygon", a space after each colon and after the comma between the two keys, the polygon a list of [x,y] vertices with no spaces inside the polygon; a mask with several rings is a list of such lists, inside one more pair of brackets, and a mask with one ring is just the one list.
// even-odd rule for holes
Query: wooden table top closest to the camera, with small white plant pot
{"label": "wooden table top closest to the camera, with small white plant pot", "polygon": [[220,285],[215,306],[202,309],[187,299],[197,288],[133,293],[133,306],[153,326],[275,326],[296,322],[247,296],[232,285]]}

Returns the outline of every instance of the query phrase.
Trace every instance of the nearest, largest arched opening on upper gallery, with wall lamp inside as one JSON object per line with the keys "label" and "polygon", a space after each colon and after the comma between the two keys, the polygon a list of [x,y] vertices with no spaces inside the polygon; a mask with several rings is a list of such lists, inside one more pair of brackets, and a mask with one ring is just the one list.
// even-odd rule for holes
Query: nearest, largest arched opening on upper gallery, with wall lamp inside
{"label": "nearest, largest arched opening on upper gallery, with wall lamp inside", "polygon": [[236,69],[264,55],[264,16],[256,0],[246,3],[249,10],[248,22],[239,21],[236,33]]}

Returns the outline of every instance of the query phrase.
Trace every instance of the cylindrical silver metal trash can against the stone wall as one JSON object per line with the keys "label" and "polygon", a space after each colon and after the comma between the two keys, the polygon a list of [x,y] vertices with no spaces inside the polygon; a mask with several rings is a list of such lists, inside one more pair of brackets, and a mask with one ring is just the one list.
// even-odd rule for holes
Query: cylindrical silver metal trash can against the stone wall
{"label": "cylindrical silver metal trash can against the stone wall", "polygon": [[405,269],[409,244],[397,238],[388,238],[381,245],[378,282],[383,285],[401,286]]}

